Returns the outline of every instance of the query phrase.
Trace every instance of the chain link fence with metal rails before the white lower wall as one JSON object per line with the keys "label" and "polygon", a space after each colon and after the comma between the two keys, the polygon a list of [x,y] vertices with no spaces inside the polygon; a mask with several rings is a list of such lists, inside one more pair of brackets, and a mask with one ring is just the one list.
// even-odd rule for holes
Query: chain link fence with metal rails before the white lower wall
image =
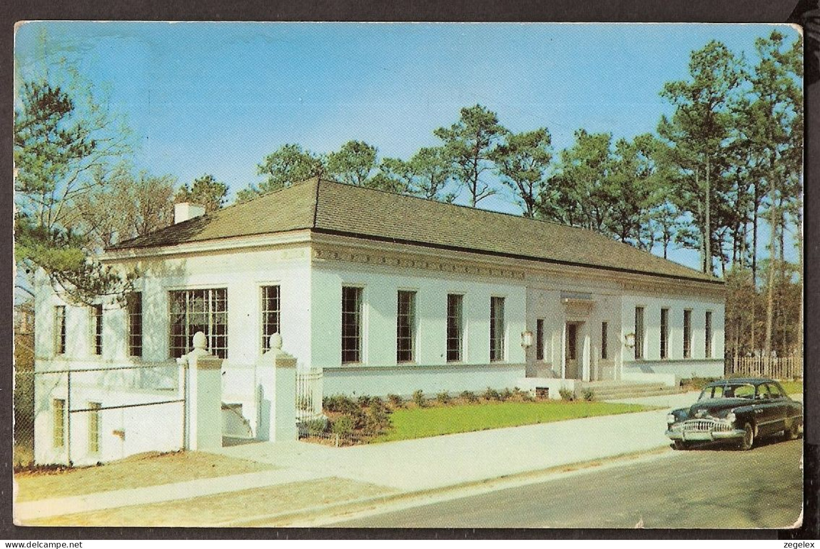
{"label": "chain link fence with metal rails before the white lower wall", "polygon": [[185,444],[174,363],[17,370],[14,466],[93,465]]}

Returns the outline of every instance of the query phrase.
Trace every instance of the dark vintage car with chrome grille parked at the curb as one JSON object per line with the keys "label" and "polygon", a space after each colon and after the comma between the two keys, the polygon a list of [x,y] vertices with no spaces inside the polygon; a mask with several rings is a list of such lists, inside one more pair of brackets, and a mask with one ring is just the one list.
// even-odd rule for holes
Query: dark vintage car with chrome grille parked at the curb
{"label": "dark vintage car with chrome grille parked at the curb", "polygon": [[743,450],[761,436],[799,437],[803,405],[791,400],[773,379],[721,379],[700,392],[698,402],[667,415],[668,438],[683,450],[696,441],[735,441]]}

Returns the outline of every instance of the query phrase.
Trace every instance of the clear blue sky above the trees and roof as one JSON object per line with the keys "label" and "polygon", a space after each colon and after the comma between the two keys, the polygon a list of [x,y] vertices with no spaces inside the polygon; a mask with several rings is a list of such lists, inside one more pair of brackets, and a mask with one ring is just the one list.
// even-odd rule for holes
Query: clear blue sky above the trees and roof
{"label": "clear blue sky above the trees and roof", "polygon": [[[231,194],[285,143],[316,152],[350,139],[380,156],[435,145],[476,103],[513,131],[546,126],[556,150],[584,128],[631,138],[671,107],[692,50],[718,39],[754,59],[773,25],[34,22],[16,34],[22,70],[66,52],[107,86],[137,143],[135,165],[180,183],[203,174]],[[796,38],[796,31],[779,25]],[[499,197],[481,206],[517,211]],[[675,261],[697,263],[675,252]]]}

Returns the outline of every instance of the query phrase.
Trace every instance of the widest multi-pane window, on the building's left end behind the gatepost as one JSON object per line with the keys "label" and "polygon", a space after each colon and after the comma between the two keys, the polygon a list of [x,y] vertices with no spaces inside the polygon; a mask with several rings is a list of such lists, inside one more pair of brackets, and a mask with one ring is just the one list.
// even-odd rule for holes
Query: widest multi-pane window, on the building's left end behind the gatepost
{"label": "widest multi-pane window, on the building's left end behind the gatepost", "polygon": [[177,290],[169,292],[171,302],[171,357],[190,351],[194,334],[205,334],[207,349],[220,358],[228,357],[228,290]]}

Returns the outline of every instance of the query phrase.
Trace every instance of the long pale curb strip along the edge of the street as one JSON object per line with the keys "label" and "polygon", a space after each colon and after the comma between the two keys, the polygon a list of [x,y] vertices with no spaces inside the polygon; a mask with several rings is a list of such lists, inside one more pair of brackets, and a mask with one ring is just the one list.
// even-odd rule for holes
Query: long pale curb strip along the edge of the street
{"label": "long pale curb strip along the edge of the street", "polygon": [[[409,492],[399,492],[385,496],[362,497],[355,500],[337,501],[335,503],[328,503],[321,506],[307,507],[300,510],[285,511],[283,513],[272,513],[267,515],[256,515],[253,517],[244,518],[241,520],[230,520],[220,524],[212,524],[215,528],[253,528],[253,527],[287,527],[300,526],[301,524],[293,524],[294,522],[303,522],[314,520],[319,517],[326,518],[340,518],[341,515],[349,515],[364,510],[370,510],[376,506],[385,506],[389,504],[399,503],[402,501],[412,501],[414,499],[423,499],[431,496],[443,496],[453,493],[458,496],[458,492],[476,488],[492,488],[494,484],[502,484],[495,489],[512,488],[503,486],[503,484],[510,483],[526,484],[524,481],[537,482],[540,477],[553,476],[555,474],[572,474],[581,473],[586,470],[596,470],[604,465],[616,465],[617,462],[625,462],[623,465],[628,465],[630,461],[636,461],[640,457],[658,455],[662,456],[667,453],[672,453],[668,446],[655,447],[643,451],[631,451],[615,456],[603,456],[594,460],[579,461],[576,463],[567,463],[565,465],[554,465],[541,470],[523,471],[521,473],[505,474],[493,479],[481,479],[467,481],[464,483],[453,484],[442,488],[426,488],[423,490],[413,490]],[[547,480],[547,479],[544,479]],[[490,490],[488,490],[490,491]],[[468,494],[471,495],[471,494]]]}

